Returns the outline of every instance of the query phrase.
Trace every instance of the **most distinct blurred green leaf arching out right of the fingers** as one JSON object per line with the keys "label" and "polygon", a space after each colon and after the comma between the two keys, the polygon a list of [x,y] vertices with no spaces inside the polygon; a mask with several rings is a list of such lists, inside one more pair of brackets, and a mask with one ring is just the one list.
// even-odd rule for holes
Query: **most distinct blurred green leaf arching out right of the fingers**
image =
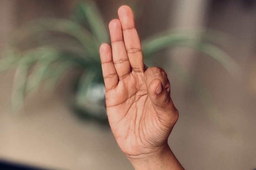
{"label": "most distinct blurred green leaf arching out right of the fingers", "polygon": [[202,42],[198,37],[195,38],[180,33],[162,34],[143,41],[143,55],[150,59],[150,56],[157,51],[173,46],[189,47],[207,54],[217,60],[233,76],[241,71],[240,66],[220,48]]}

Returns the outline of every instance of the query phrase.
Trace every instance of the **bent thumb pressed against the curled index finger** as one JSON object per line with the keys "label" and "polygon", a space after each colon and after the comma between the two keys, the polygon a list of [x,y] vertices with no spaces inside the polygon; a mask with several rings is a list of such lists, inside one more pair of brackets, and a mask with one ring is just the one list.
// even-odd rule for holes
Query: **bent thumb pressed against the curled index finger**
{"label": "bent thumb pressed against the curled index finger", "polygon": [[161,120],[176,123],[179,116],[178,110],[173,105],[170,92],[163,87],[159,79],[156,78],[150,82],[148,96]]}

